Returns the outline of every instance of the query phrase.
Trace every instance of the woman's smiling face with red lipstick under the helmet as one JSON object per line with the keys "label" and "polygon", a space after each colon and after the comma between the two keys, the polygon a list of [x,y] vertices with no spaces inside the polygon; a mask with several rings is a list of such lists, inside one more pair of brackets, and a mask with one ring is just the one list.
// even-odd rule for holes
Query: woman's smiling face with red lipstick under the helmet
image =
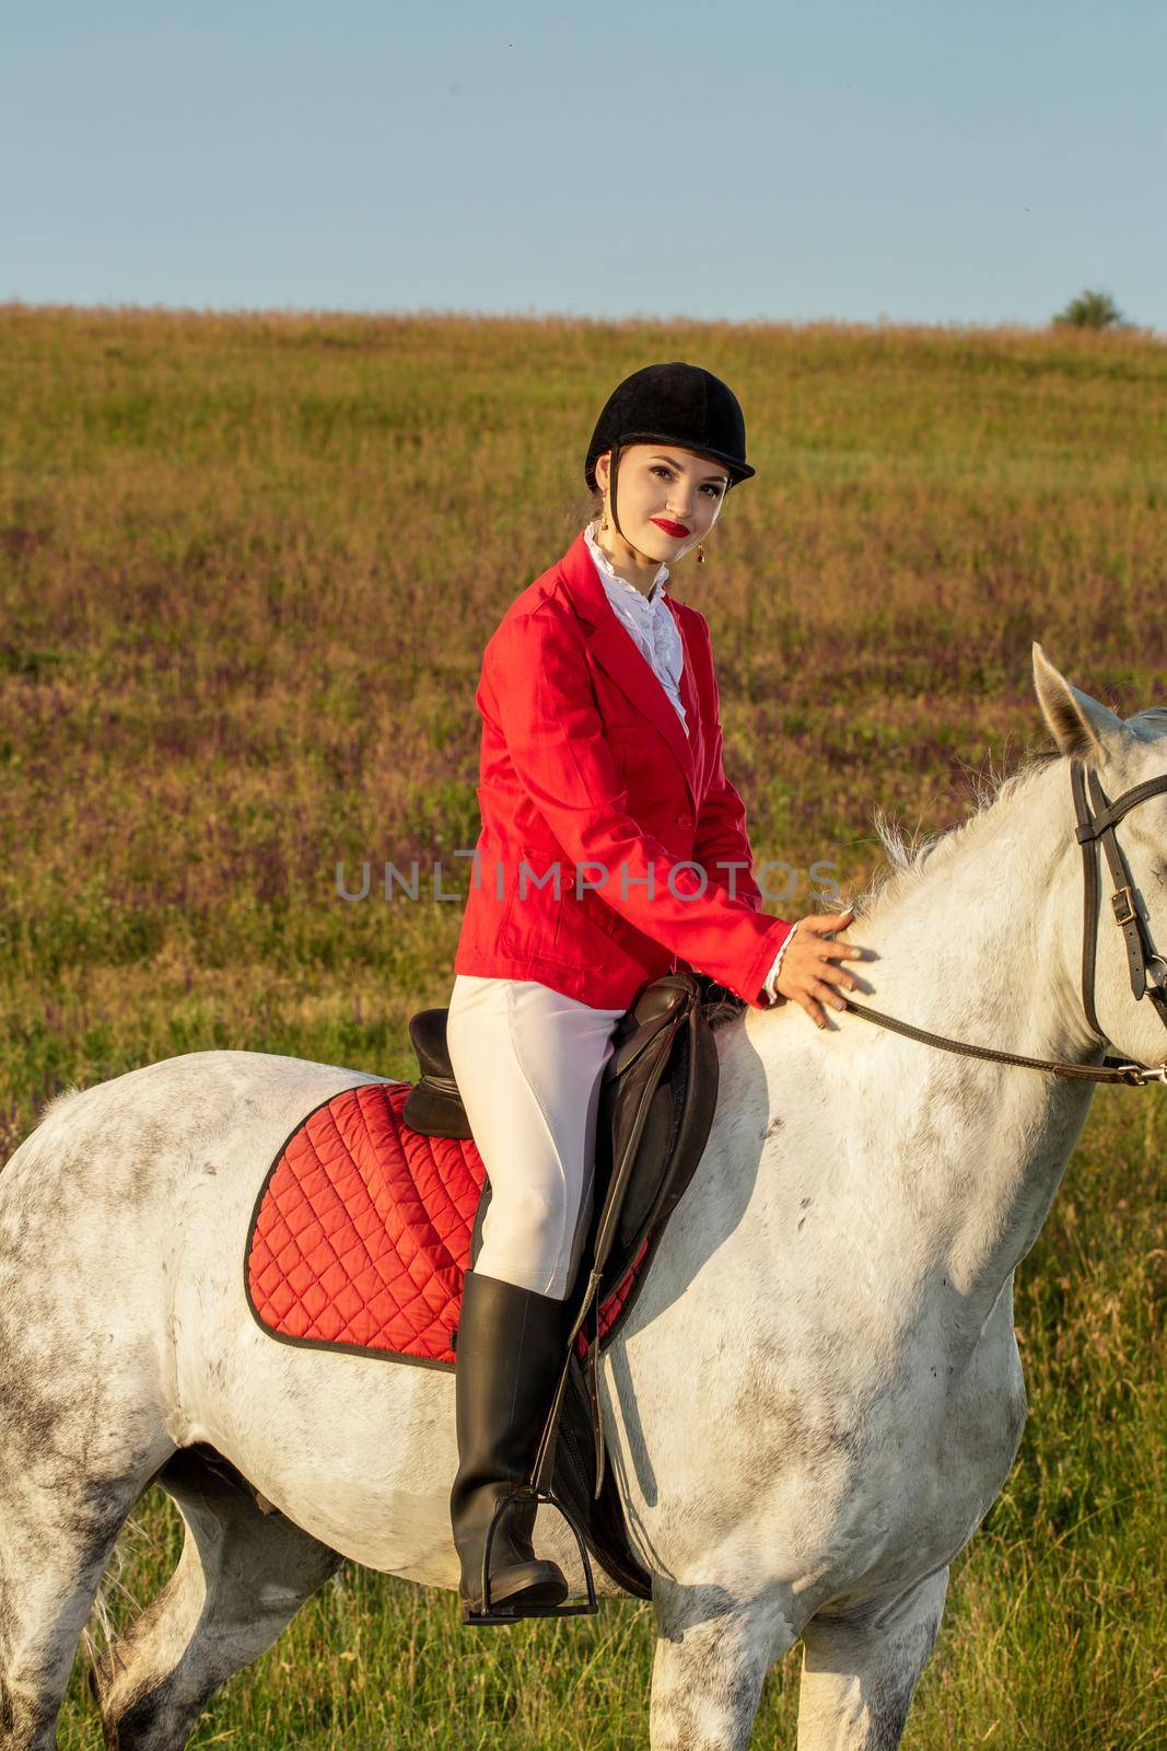
{"label": "woman's smiling face with red lipstick under the helmet", "polygon": [[[609,504],[611,450],[598,457],[595,478]],[[619,452],[616,515],[632,546],[672,564],[696,546],[717,522],[730,473],[719,462],[675,443],[632,443]],[[619,534],[611,522],[614,539]]]}

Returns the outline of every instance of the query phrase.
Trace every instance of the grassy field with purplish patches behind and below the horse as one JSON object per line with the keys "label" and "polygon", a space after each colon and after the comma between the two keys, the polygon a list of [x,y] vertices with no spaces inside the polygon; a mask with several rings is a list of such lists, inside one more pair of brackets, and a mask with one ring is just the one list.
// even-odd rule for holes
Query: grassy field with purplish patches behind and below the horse
{"label": "grassy field with purplish patches behind and below the horse", "polygon": [[[877,807],[940,830],[1043,742],[1034,637],[1120,713],[1167,702],[1151,338],[0,308],[0,1159],[68,1080],[175,1052],[411,1073],[460,905],[346,904],[336,865],[474,844],[481,646],[579,531],[611,387],[675,357],[733,383],[758,468],[674,588],[756,858],[798,872],[773,911],[812,909],[815,860],[866,884]],[[1167,1746],[1165,1157],[1162,1091],[1095,1094],[912,1751]],[[108,1625],[178,1539],[150,1494]],[[472,1637],[346,1565],[192,1744],[632,1751],[651,1646],[632,1602]],[[794,1709],[791,1656],[756,1744]],[[61,1744],[98,1742],[79,1656]]]}

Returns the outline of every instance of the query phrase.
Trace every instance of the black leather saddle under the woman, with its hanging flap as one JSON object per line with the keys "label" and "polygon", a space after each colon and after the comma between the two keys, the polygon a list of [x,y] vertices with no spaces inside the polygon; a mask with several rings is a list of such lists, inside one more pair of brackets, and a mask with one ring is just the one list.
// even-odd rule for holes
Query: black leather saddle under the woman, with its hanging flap
{"label": "black leather saddle under the woman, with its hanging flap", "polygon": [[[646,984],[612,1030],[614,1051],[600,1082],[595,1142],[595,1199],[576,1282],[569,1290],[572,1340],[535,1462],[535,1483],[549,1485],[579,1541],[595,1609],[584,1543],[607,1572],[640,1599],[651,1597],[619,1495],[607,1474],[598,1390],[602,1338],[626,1319],[672,1210],[702,1159],[717,1107],[717,1023],[745,1005],[703,974],[665,974]],[[409,1021],[420,1065],[402,1117],[429,1136],[471,1138],[446,1045],[446,1009]],[[483,1184],[471,1241],[478,1259],[490,1178]],[[600,1333],[604,1301],[635,1280],[616,1320]],[[586,1329],[590,1326],[590,1331]],[[558,1446],[558,1453],[556,1453]],[[581,1532],[583,1527],[583,1532]]]}

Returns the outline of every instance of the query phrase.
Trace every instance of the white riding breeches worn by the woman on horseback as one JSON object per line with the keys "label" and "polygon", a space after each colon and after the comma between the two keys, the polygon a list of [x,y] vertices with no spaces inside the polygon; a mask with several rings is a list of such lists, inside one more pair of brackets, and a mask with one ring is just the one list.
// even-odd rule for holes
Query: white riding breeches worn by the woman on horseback
{"label": "white riding breeches worn by the woman on horseback", "polygon": [[600,1075],[623,1009],[457,974],[446,1040],[490,1177],[474,1269],[563,1301],[591,1217]]}

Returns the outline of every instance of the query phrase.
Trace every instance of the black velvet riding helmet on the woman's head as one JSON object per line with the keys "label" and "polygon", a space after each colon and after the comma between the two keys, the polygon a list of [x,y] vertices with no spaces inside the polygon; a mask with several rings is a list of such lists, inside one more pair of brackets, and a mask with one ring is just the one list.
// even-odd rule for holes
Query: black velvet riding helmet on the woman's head
{"label": "black velvet riding helmet on the woman's head", "polygon": [[[646,364],[618,383],[595,422],[584,480],[595,492],[595,464],[612,452],[609,506],[618,534],[625,536],[616,513],[616,476],[621,447],[630,443],[675,443],[721,462],[730,475],[726,494],[740,480],[756,473],[745,461],[745,420],[742,404],[728,383],[700,364]],[[625,539],[628,539],[625,536]],[[630,543],[632,545],[632,543]]]}

